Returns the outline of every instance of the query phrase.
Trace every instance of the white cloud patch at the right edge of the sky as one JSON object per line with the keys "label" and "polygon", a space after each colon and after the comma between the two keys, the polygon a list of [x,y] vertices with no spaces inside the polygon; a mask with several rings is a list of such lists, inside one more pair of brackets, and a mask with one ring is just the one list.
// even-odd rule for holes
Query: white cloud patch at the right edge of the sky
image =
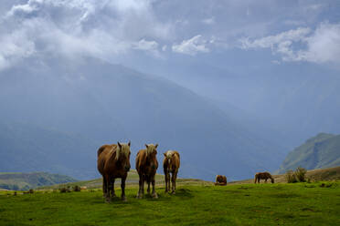
{"label": "white cloud patch at the right edge of the sky", "polygon": [[241,48],[271,48],[283,61],[340,63],[340,24],[322,23],[313,31],[308,27],[258,39],[240,39]]}

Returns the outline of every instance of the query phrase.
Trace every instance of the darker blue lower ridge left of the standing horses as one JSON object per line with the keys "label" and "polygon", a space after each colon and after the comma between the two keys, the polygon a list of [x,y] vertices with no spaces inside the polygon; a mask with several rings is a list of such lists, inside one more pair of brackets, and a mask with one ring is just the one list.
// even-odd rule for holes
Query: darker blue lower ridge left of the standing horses
{"label": "darker blue lower ridge left of the standing horses", "polygon": [[48,171],[77,179],[96,177],[90,139],[23,123],[0,123],[0,172]]}

